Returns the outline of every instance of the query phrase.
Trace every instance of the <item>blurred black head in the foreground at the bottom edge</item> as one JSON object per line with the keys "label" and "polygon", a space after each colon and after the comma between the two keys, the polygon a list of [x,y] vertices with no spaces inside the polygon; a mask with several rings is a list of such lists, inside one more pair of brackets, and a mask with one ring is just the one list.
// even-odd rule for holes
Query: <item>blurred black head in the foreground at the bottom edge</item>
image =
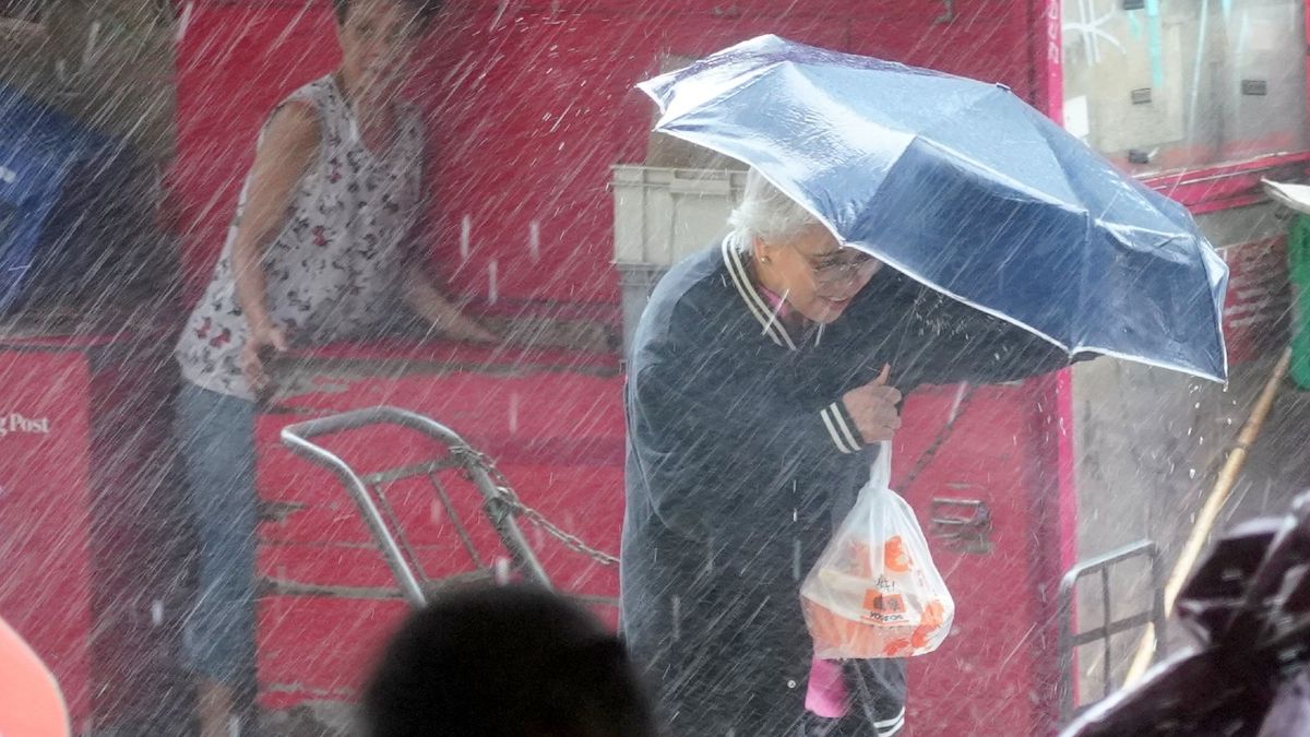
{"label": "blurred black head in the foreground at the bottom edge", "polygon": [[364,692],[372,737],[651,737],[618,639],[544,589],[478,586],[413,614]]}

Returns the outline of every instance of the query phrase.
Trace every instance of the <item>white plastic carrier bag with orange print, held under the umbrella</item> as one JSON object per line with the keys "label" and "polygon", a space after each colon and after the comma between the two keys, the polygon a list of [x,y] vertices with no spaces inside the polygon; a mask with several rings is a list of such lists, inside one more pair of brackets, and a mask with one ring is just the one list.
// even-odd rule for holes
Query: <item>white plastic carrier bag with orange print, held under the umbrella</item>
{"label": "white plastic carrier bag with orange print, held under the umbrella", "polygon": [[884,442],[855,508],[800,585],[817,657],[921,656],[951,631],[955,602],[914,510],[888,487],[891,468]]}

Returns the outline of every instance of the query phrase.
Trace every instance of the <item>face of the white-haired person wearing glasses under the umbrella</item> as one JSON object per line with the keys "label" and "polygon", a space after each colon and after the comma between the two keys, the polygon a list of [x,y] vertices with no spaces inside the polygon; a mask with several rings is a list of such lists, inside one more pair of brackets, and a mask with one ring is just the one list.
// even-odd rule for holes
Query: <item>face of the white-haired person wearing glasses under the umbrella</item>
{"label": "face of the white-haired person wearing glasses under the umbrella", "polygon": [[841,248],[823,226],[811,226],[785,244],[765,243],[764,252],[787,303],[815,323],[841,317],[882,266],[862,250]]}

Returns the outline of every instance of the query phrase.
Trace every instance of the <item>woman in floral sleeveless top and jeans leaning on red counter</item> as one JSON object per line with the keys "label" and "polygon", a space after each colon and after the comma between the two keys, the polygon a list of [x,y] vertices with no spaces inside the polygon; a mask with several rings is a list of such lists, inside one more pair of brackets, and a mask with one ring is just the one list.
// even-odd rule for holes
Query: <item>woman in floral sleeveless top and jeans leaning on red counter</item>
{"label": "woman in floral sleeveless top and jeans leaning on red counter", "polygon": [[494,341],[432,285],[409,243],[423,126],[397,98],[438,0],[333,0],[342,64],[259,135],[236,218],[177,345],[177,434],[199,536],[186,645],[202,737],[253,713],[254,397],[290,345],[367,334],[398,296],[447,337]]}

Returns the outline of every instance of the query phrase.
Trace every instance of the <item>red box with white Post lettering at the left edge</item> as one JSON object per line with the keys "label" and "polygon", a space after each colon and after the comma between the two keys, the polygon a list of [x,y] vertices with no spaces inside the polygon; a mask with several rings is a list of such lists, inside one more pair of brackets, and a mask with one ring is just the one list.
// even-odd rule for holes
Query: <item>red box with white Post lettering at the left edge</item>
{"label": "red box with white Post lettering at the left edge", "polygon": [[157,333],[0,345],[0,618],[51,667],[77,733],[182,729],[168,345]]}

